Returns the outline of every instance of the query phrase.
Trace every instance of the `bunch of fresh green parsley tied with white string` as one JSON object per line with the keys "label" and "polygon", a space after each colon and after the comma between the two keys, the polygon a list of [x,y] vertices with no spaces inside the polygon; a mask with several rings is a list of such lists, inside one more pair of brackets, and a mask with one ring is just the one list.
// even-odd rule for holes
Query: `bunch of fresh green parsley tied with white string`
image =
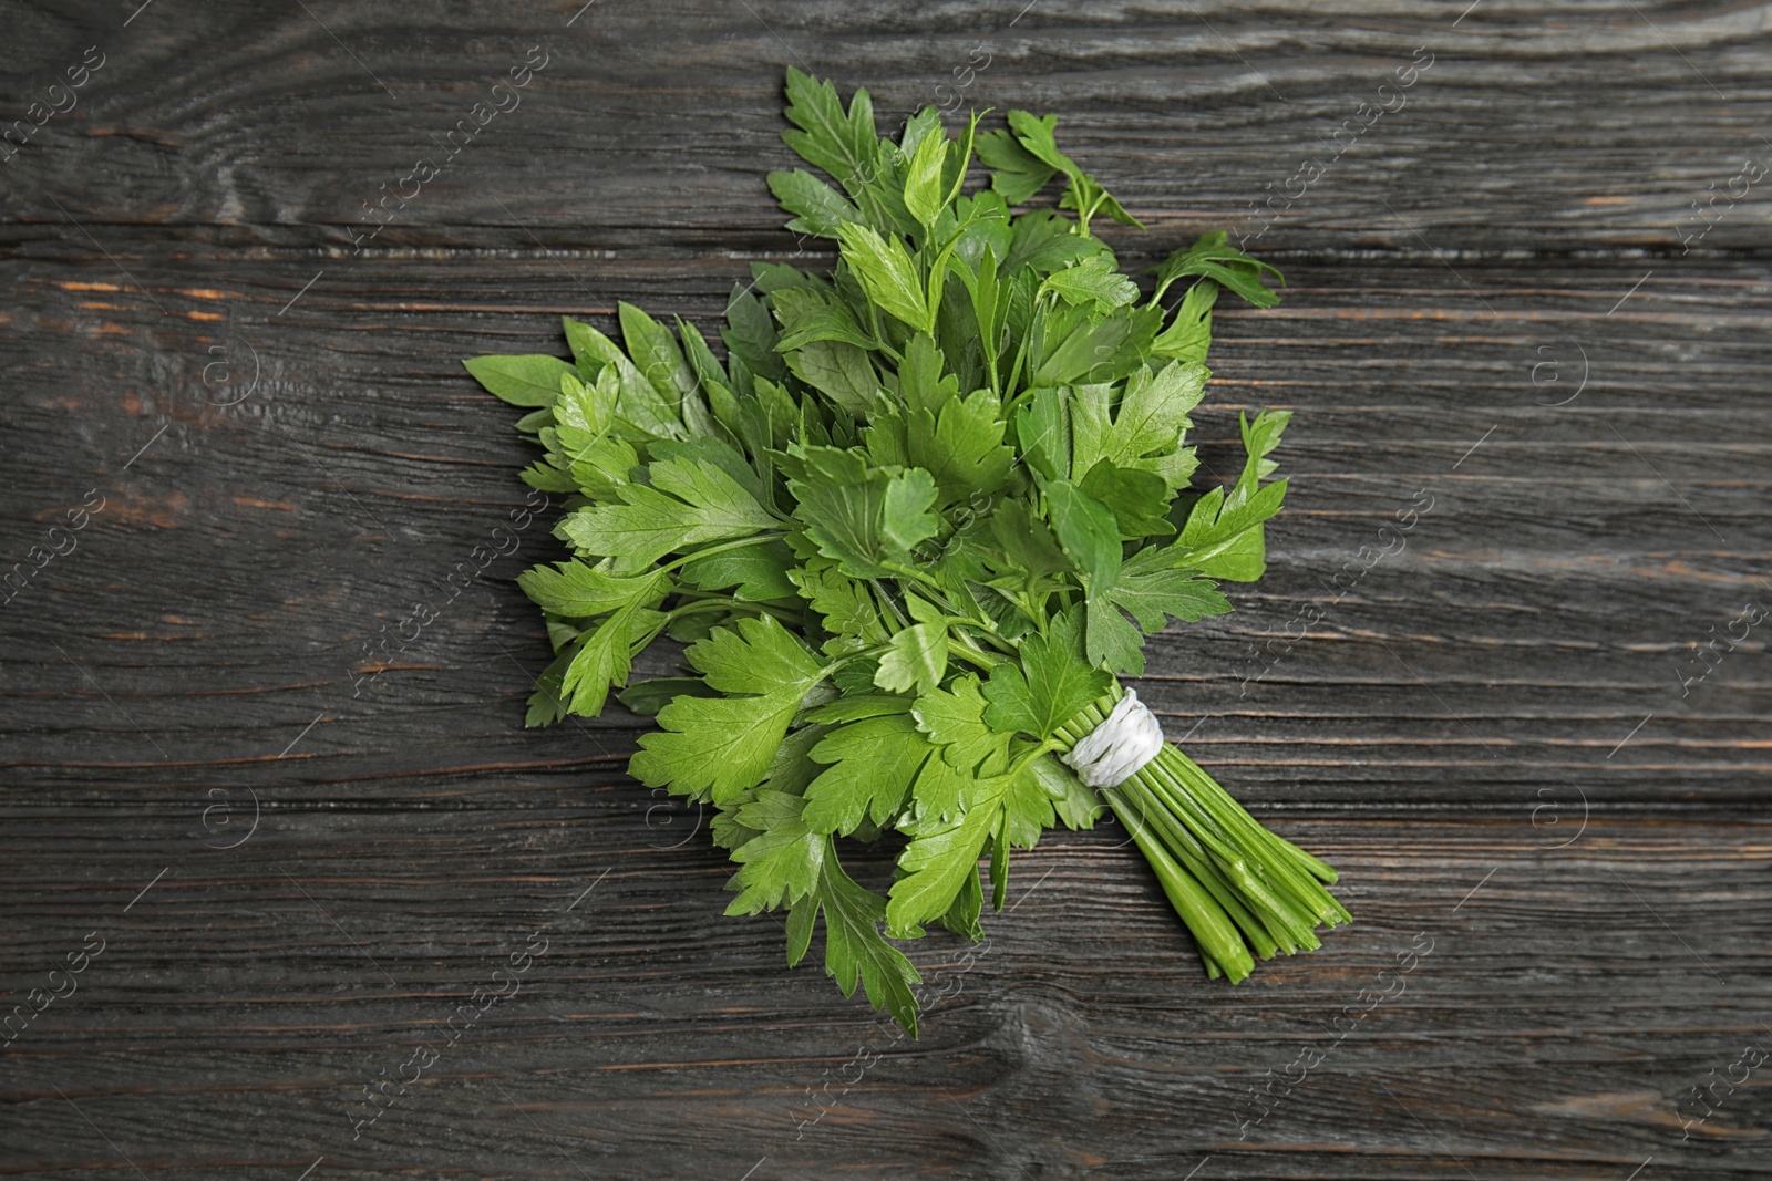
{"label": "bunch of fresh green parsley tied with white string", "polygon": [[[565,320],[572,363],[466,363],[530,409],[517,427],[546,457],[523,476],[567,498],[576,558],[519,579],[556,652],[530,724],[595,717],[624,687],[659,724],[633,774],[718,809],[728,914],[785,907],[794,965],[822,912],[843,995],[859,981],[913,1034],[920,977],[888,938],[982,938],[980,861],[1001,908],[1010,850],[1092,827],[1104,802],[1209,976],[1317,947],[1348,919],[1334,871],[1162,742],[1116,680],[1170,616],[1230,611],[1219,579],[1263,570],[1288,414],[1244,420],[1242,473],[1205,492],[1185,430],[1219,290],[1265,308],[1278,271],[1209,234],[1143,296],[1090,232],[1138,221],[1058,151],[1051,115],[989,133],[973,115],[950,138],[925,108],[891,143],[867,90],[845,112],[789,71],[787,96],[787,145],[835,186],[769,186],[790,230],[833,239],[835,271],[755,264],[725,361],[693,324],[624,303],[622,343]],[[966,193],[973,156],[989,186]],[[1028,207],[1054,179],[1058,207]],[[659,636],[689,645],[693,675],[629,683]],[[881,896],[840,853],[890,830]]]}

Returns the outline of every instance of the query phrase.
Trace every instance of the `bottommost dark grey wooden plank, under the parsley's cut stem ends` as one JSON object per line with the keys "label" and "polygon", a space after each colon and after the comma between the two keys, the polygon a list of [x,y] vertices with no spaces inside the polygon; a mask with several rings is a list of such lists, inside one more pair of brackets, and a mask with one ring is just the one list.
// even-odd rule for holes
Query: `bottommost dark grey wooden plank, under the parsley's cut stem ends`
{"label": "bottommost dark grey wooden plank, under the parsley's cut stem ends", "polygon": [[[1675,1144],[1703,1110],[1687,1089],[1767,1041],[1763,825],[1597,822],[1565,850],[1524,818],[1286,825],[1345,866],[1359,922],[1237,990],[1201,977],[1122,836],[1058,836],[971,961],[913,946],[939,999],[911,1043],[783,972],[769,919],[719,919],[700,843],[650,848],[569,786],[500,814],[299,807],[234,850],[135,807],[23,820],[9,984],[87,931],[105,951],[7,1050],[12,1170],[119,1151],[181,1177],[321,1154],[370,1177],[1765,1170],[1760,1087]],[[512,981],[447,1043],[455,1004]],[[427,1045],[434,1068],[353,1140],[361,1085]],[[1295,1085],[1256,1123],[1269,1069]]]}

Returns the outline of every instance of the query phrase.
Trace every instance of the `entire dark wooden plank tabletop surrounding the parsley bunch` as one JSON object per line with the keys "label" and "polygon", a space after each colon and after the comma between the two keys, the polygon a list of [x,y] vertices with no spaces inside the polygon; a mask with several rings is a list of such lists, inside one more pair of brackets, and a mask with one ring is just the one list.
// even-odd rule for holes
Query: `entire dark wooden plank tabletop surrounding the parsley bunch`
{"label": "entire dark wooden plank tabletop surrounding the parsley bunch", "polygon": [[[1772,1176],[1772,5],[579,4],[0,4],[0,1176]],[[789,64],[1286,271],[1200,414],[1297,411],[1269,575],[1138,687],[1322,951],[1209,983],[1058,832],[913,1043],[721,915],[643,719],[523,729],[546,519],[369,676],[526,492],[459,358],[829,262]]]}

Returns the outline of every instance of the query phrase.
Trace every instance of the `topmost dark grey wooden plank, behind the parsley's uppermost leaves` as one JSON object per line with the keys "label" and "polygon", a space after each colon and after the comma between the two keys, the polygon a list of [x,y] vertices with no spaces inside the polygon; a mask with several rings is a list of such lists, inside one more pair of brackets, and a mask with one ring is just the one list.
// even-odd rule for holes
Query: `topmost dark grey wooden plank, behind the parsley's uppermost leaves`
{"label": "topmost dark grey wooden plank, behind the parsley's uppermost leaves", "polygon": [[[757,174],[787,166],[794,64],[868,87],[882,127],[925,103],[1061,112],[1063,143],[1170,237],[1258,234],[1265,207],[1271,250],[1421,250],[1428,227],[1441,250],[1765,243],[1772,92],[1753,5],[1611,0],[1547,19],[1492,2],[679,2],[569,25],[574,0],[211,2],[128,27],[108,4],[12,9],[14,117],[89,46],[105,55],[7,166],[19,235],[73,216],[349,251],[386,184],[409,202],[370,248],[484,244],[514,218],[549,244],[755,248],[780,225]],[[494,96],[532,46],[546,66]],[[450,154],[475,103],[510,110]],[[413,195],[418,159],[441,172]]]}

